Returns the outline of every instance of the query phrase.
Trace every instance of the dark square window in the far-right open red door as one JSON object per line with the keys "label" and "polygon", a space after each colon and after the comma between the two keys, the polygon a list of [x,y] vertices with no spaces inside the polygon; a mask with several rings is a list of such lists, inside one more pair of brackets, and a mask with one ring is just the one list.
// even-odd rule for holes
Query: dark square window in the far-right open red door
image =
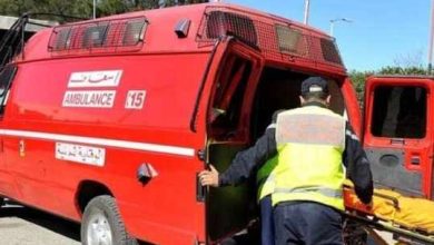
{"label": "dark square window in the far-right open red door", "polygon": [[374,91],[372,134],[389,138],[424,138],[426,89],[379,86]]}

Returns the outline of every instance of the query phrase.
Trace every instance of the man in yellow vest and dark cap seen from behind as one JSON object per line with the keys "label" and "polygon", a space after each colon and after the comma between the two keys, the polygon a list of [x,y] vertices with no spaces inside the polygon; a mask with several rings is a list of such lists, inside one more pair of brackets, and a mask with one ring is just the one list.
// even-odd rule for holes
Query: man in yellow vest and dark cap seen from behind
{"label": "man in yellow vest and dark cap seen from behind", "polygon": [[327,109],[329,100],[325,79],[306,79],[300,108],[278,114],[276,124],[255,146],[238,153],[221,175],[214,167],[200,174],[203,185],[237,185],[275,157],[277,163],[264,185],[273,190],[276,245],[343,244],[345,177],[354,183],[358,198],[371,203],[366,154],[349,124]]}

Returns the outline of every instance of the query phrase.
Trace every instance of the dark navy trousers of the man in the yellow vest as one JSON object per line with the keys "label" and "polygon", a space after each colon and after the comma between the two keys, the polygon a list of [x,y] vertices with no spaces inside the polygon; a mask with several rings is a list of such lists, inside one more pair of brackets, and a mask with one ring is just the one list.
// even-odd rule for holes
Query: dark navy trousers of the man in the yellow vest
{"label": "dark navy trousers of the man in the yellow vest", "polygon": [[288,202],[274,209],[276,245],[342,245],[342,215],[310,202]]}

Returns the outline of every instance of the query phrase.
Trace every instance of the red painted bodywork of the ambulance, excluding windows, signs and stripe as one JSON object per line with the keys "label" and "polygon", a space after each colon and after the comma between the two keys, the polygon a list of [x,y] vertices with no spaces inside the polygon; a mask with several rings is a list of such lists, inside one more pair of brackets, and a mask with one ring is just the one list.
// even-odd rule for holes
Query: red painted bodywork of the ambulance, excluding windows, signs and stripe
{"label": "red painted bodywork of the ambulance, excluding windows, signs and stripe", "polygon": [[[193,131],[190,121],[213,50],[213,46],[200,47],[196,42],[196,33],[207,6],[215,4],[124,14],[122,18],[146,16],[150,23],[142,48],[135,52],[77,52],[55,57],[47,49],[51,30],[39,32],[28,42],[24,59],[17,60],[18,74],[0,128],[188,147],[197,154],[205,148],[207,140],[206,115],[215,77],[226,51],[234,49],[254,59],[257,71],[267,63],[336,78],[342,82],[348,117],[358,130],[361,116],[355,109],[358,105],[354,89],[345,80],[345,68],[297,57],[277,62],[263,57],[260,50],[247,46],[233,47],[224,41],[211,60],[198,100],[196,131]],[[302,24],[289,20],[243,8],[239,10],[251,19],[268,23],[293,23],[302,28]],[[174,27],[185,17],[191,20],[189,35],[178,39]],[[325,37],[307,27],[302,29],[306,33]],[[62,107],[65,92],[72,90],[67,88],[71,72],[96,70],[122,70],[120,85],[115,88],[117,94],[114,107]],[[246,95],[246,109],[241,116],[246,135],[249,131],[248,109],[251,108],[259,74],[254,76],[249,81],[251,87]],[[125,109],[129,90],[146,90],[142,109]],[[21,141],[24,144],[24,155],[19,153]],[[114,194],[127,228],[134,236],[157,244],[206,241],[205,204],[196,200],[196,174],[204,169],[204,163],[196,155],[186,157],[105,147],[106,165],[95,167],[57,160],[53,140],[2,136],[1,144],[0,193],[6,196],[80,220],[77,193],[82,182],[93,180],[103,184]],[[146,185],[136,179],[137,168],[144,163],[151,164],[158,171],[158,177]]]}

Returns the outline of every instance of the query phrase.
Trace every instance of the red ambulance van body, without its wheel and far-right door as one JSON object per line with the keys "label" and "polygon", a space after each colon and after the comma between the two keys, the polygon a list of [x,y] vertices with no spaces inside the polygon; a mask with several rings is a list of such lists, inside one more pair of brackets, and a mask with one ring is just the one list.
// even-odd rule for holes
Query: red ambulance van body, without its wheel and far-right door
{"label": "red ambulance van body, without its wheel and far-right door", "polygon": [[77,222],[108,195],[132,237],[216,243],[246,227],[255,195],[197,174],[298,107],[309,76],[359,133],[334,39],[284,18],[207,3],[46,29],[0,75],[0,194]]}

